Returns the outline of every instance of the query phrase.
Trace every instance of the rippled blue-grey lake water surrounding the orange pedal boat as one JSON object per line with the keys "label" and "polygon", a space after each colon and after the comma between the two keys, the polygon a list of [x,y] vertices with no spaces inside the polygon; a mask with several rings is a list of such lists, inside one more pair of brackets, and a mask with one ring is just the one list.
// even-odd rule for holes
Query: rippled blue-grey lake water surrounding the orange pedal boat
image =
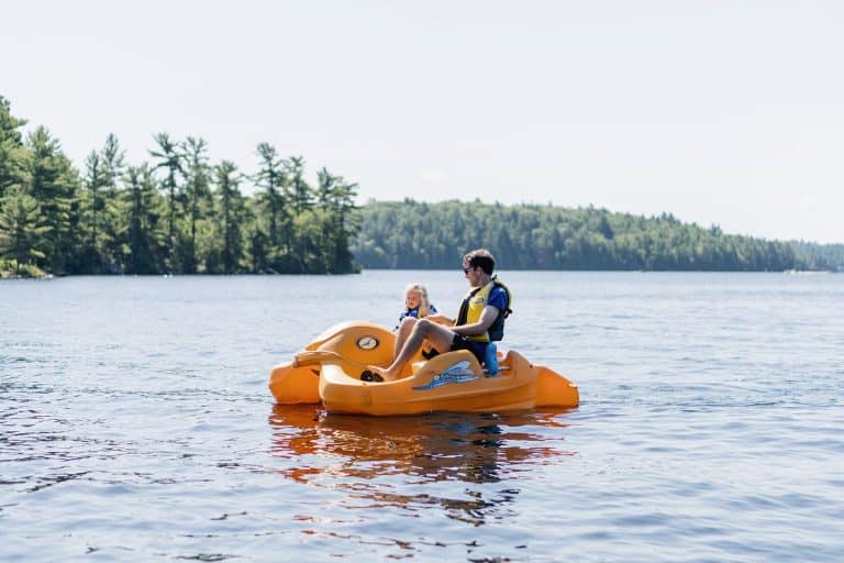
{"label": "rippled blue-grey lake water surrounding the orange pedal boat", "polygon": [[504,272],[573,411],[367,418],[266,383],[463,273],[0,283],[3,561],[841,561],[844,276]]}

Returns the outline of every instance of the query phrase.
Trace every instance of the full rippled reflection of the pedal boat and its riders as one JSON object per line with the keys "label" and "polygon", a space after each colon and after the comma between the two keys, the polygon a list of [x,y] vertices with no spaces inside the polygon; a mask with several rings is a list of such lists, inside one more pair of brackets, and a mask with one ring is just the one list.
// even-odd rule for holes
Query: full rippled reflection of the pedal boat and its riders
{"label": "full rippled reflection of the pedal boat and its riders", "polygon": [[502,516],[522,476],[576,453],[560,448],[565,412],[366,417],[276,405],[269,423],[273,454],[287,462],[278,471],[297,483],[344,490],[349,508],[440,506],[480,525]]}

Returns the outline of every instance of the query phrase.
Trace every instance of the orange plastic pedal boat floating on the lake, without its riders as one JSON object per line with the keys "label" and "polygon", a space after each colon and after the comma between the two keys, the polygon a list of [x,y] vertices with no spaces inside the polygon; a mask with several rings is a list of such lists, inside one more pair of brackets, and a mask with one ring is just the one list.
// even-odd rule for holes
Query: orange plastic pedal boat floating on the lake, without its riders
{"label": "orange plastic pedal boat floating on the lake, without its riders", "polygon": [[375,416],[577,407],[580,400],[575,384],[512,350],[498,358],[493,375],[466,350],[431,360],[420,351],[398,379],[367,380],[373,377],[367,366],[392,361],[395,341],[395,334],[379,324],[335,324],[292,362],[275,366],[269,390],[280,405],[322,402],[330,412]]}

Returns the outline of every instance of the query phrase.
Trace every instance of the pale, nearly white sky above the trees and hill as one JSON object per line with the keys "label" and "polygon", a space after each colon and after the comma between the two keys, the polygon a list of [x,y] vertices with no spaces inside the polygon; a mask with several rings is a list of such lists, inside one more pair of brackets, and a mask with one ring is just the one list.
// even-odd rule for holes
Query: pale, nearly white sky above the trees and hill
{"label": "pale, nearly white sky above the trees and hill", "polygon": [[[80,168],[167,132],[358,199],[595,206],[844,243],[837,0],[3,0],[0,96]],[[248,191],[248,189],[247,189]]]}

